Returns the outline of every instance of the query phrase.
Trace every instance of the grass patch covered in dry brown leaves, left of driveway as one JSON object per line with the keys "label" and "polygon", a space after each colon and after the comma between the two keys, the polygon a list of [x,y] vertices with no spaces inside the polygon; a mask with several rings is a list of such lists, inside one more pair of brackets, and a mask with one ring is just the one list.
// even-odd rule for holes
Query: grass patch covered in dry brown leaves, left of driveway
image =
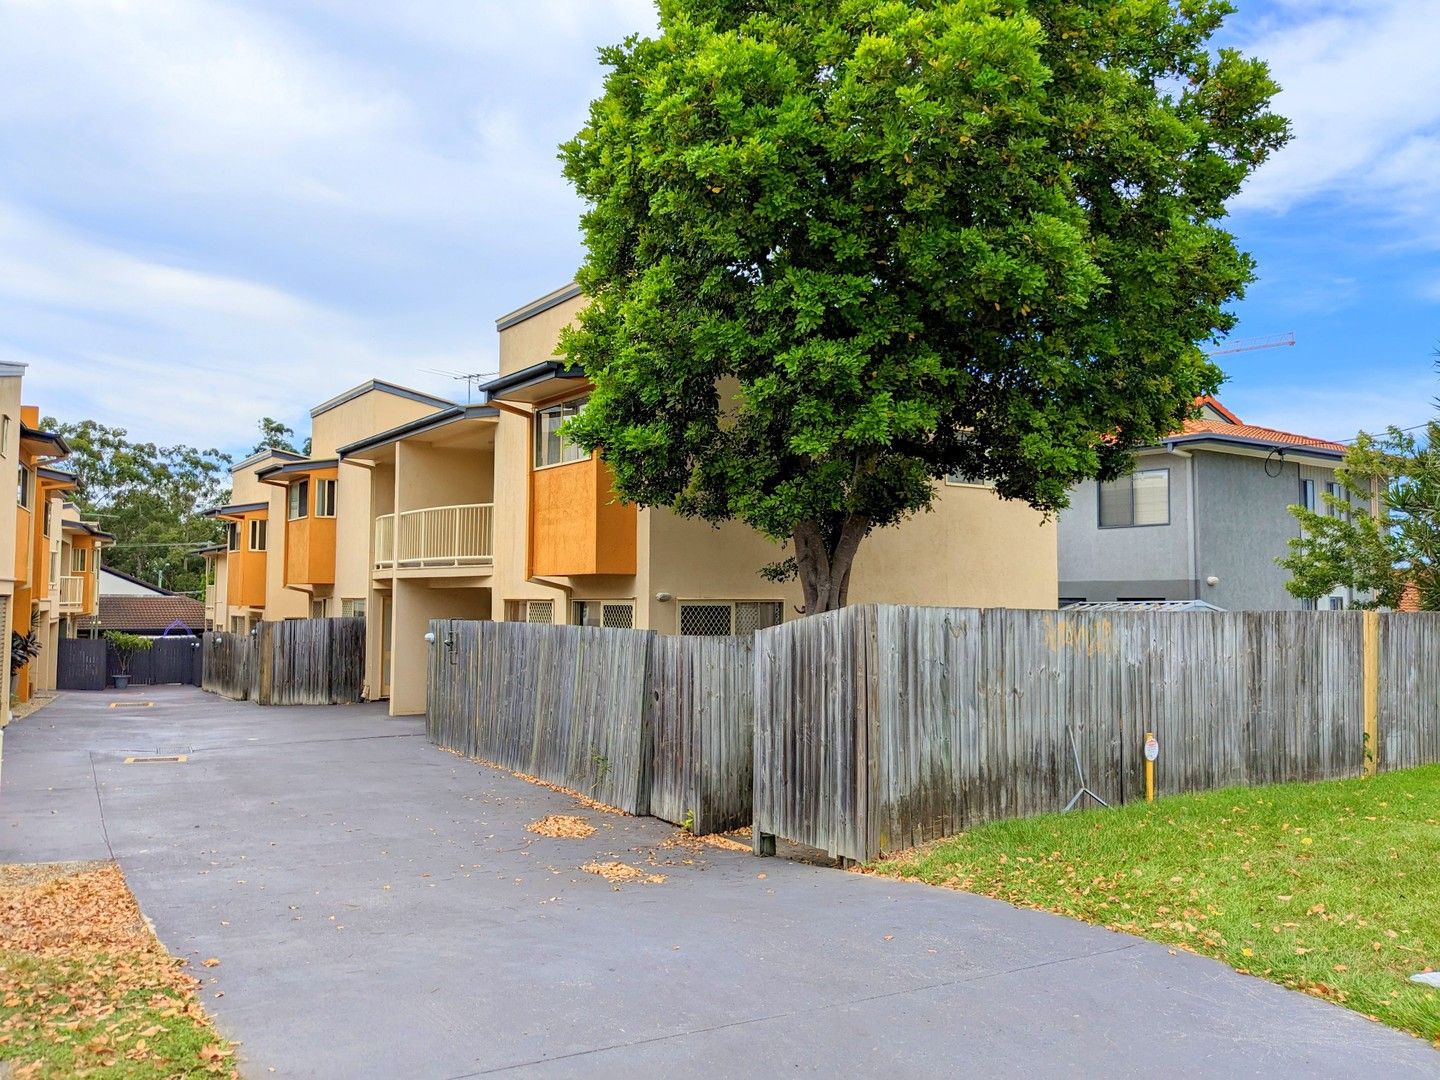
{"label": "grass patch covered in dry brown leaves, left of driveway", "polygon": [[112,863],[0,867],[0,1060],[10,1076],[229,1076],[219,1038]]}

